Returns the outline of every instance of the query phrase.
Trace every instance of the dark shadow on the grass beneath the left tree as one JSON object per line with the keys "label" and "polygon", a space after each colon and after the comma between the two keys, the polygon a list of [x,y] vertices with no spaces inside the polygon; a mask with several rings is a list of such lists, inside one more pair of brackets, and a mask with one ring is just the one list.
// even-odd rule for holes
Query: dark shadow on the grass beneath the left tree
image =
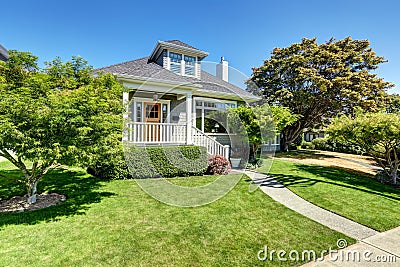
{"label": "dark shadow on the grass beneath the left tree", "polygon": [[[0,173],[7,177],[20,177],[18,170],[2,170]],[[52,170],[39,182],[38,193],[55,192],[65,195],[67,200],[40,210],[0,213],[0,229],[11,224],[36,224],[57,221],[64,216],[85,214],[90,204],[114,195],[111,192],[98,191],[104,182],[82,170]],[[25,194],[24,185],[0,178],[0,199]]]}

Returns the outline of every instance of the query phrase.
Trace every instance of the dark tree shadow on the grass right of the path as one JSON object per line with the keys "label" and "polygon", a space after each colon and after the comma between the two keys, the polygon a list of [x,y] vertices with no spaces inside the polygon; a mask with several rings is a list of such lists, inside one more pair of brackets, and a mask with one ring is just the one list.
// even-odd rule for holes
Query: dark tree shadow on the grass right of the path
{"label": "dark tree shadow on the grass right of the path", "polygon": [[393,200],[400,200],[400,191],[398,189],[381,184],[378,181],[366,176],[353,174],[341,169],[316,165],[295,164],[295,166],[300,171],[305,171],[317,177],[319,176],[323,178],[318,179],[305,176],[300,177],[298,175],[291,174],[270,174],[270,176],[278,180],[280,183],[283,183],[285,186],[296,185],[307,187],[313,186],[317,183],[325,183],[339,187],[351,188]]}

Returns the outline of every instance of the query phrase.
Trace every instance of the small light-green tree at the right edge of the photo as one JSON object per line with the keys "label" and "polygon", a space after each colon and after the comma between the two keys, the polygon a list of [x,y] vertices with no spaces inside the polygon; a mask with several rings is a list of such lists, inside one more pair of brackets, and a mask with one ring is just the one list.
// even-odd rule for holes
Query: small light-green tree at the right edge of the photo
{"label": "small light-green tree at the right edge of the photo", "polygon": [[373,156],[393,184],[399,178],[400,116],[390,113],[358,112],[342,115],[328,126],[329,138],[361,147]]}

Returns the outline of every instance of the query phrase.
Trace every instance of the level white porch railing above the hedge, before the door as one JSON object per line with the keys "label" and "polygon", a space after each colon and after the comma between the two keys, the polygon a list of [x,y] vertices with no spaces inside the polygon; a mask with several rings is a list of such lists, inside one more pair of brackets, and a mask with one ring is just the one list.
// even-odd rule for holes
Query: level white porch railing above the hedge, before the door
{"label": "level white porch railing above the hedge, before the door", "polygon": [[186,144],[186,125],[177,123],[128,123],[128,141],[136,144]]}

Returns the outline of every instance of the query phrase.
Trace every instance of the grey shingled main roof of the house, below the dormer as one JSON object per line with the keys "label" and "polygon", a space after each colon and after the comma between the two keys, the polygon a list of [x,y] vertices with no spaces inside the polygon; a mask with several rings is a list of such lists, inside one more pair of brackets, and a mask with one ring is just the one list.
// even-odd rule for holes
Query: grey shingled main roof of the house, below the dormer
{"label": "grey shingled main roof of the house, below the dormer", "polygon": [[160,65],[149,61],[149,57],[144,57],[120,64],[100,68],[97,72],[111,73],[115,76],[130,76],[132,78],[153,79],[171,83],[186,83],[187,85],[197,85],[194,94],[221,95],[223,99],[244,99],[256,101],[258,97],[231,84],[225,82],[214,75],[202,70],[200,79],[188,76],[181,76],[172,71],[164,69]]}

